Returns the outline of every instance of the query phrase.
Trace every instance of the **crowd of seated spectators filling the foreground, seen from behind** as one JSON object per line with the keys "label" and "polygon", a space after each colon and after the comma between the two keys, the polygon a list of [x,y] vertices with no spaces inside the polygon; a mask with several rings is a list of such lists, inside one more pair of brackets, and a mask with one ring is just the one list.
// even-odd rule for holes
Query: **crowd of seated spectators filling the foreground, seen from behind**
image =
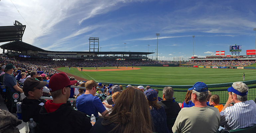
{"label": "crowd of seated spectators filling the foreground, seen from behind", "polygon": [[[15,61],[6,58],[1,60],[2,70],[6,72],[3,83],[13,87],[15,90],[12,91],[23,93],[22,120],[28,122],[33,118],[38,123],[36,132],[215,133],[220,127],[232,130],[256,124],[256,104],[253,100],[247,100],[249,88],[243,82],[235,82],[228,88],[229,97],[225,106],[219,104],[218,95],[211,96],[207,85],[202,82],[189,88],[184,103],[178,104],[170,86],[163,88],[163,97],[160,98],[158,92],[150,86],[144,88],[142,85],[127,85],[122,90],[117,84],[104,86],[93,80],[77,82],[73,77],[68,78],[65,73],[56,73],[43,67],[52,63],[54,62]],[[129,63],[135,65],[141,61]],[[25,78],[24,75],[29,71],[30,77]],[[26,79],[23,86],[10,80],[14,79],[9,76],[12,74]],[[71,85],[84,86],[85,90],[72,88]],[[111,89],[110,93],[106,92],[107,88]],[[41,99],[44,92],[52,96],[53,100]],[[109,96],[102,102],[100,94]],[[67,102],[70,97],[77,99],[75,108]],[[88,116],[92,116],[91,120]],[[93,119],[93,116],[96,118]]]}

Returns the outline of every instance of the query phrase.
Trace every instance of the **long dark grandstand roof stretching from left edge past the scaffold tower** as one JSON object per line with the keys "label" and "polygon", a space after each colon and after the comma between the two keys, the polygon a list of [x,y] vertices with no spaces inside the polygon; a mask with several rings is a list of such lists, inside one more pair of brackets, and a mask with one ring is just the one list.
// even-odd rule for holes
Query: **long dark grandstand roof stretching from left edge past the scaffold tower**
{"label": "long dark grandstand roof stretching from left edge past the scaffold tower", "polygon": [[33,46],[31,44],[27,44],[22,41],[13,41],[10,43],[6,43],[0,46],[1,49],[5,50],[13,50],[13,51],[27,51],[27,50],[32,50],[32,51],[42,51],[42,52],[76,52],[76,53],[96,53],[96,54],[152,54],[154,52],[124,52],[124,51],[103,51],[103,52],[93,52],[93,51],[49,51],[49,50],[43,50],[41,48],[38,48],[36,46]]}

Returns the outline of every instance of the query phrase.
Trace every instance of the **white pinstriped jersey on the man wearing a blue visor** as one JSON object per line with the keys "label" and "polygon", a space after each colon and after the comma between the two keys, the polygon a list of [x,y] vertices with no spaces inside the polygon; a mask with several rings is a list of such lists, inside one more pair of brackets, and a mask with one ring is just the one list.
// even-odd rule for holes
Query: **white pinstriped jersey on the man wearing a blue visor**
{"label": "white pinstriped jersey on the man wearing a blue visor", "polygon": [[220,125],[233,130],[256,124],[256,104],[253,100],[235,103],[220,112]]}

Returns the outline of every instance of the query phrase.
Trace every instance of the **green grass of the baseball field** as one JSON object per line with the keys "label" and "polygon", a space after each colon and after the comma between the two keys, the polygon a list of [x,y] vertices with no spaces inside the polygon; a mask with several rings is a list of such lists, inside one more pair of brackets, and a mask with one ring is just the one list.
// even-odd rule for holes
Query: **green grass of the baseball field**
{"label": "green grass of the baseball field", "polygon": [[[101,67],[103,69],[104,67]],[[111,69],[105,67],[104,69]],[[230,83],[243,80],[255,80],[254,69],[215,69],[193,67],[140,67],[139,70],[81,72],[77,68],[58,68],[61,71],[77,75],[87,80],[107,83],[154,84],[154,85],[192,85],[195,82],[206,84]],[[86,69],[86,68],[83,68]],[[92,68],[95,69],[95,68]]]}

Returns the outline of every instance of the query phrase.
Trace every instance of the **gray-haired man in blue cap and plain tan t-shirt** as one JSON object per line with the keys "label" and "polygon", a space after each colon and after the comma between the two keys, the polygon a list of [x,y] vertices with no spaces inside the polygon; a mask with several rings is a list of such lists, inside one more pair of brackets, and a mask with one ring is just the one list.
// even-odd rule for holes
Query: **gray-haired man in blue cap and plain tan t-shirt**
{"label": "gray-haired man in blue cap and plain tan t-shirt", "polygon": [[208,87],[205,83],[196,82],[192,88],[191,100],[195,106],[183,108],[176,118],[173,132],[176,133],[215,133],[220,124],[219,111],[206,105]]}

